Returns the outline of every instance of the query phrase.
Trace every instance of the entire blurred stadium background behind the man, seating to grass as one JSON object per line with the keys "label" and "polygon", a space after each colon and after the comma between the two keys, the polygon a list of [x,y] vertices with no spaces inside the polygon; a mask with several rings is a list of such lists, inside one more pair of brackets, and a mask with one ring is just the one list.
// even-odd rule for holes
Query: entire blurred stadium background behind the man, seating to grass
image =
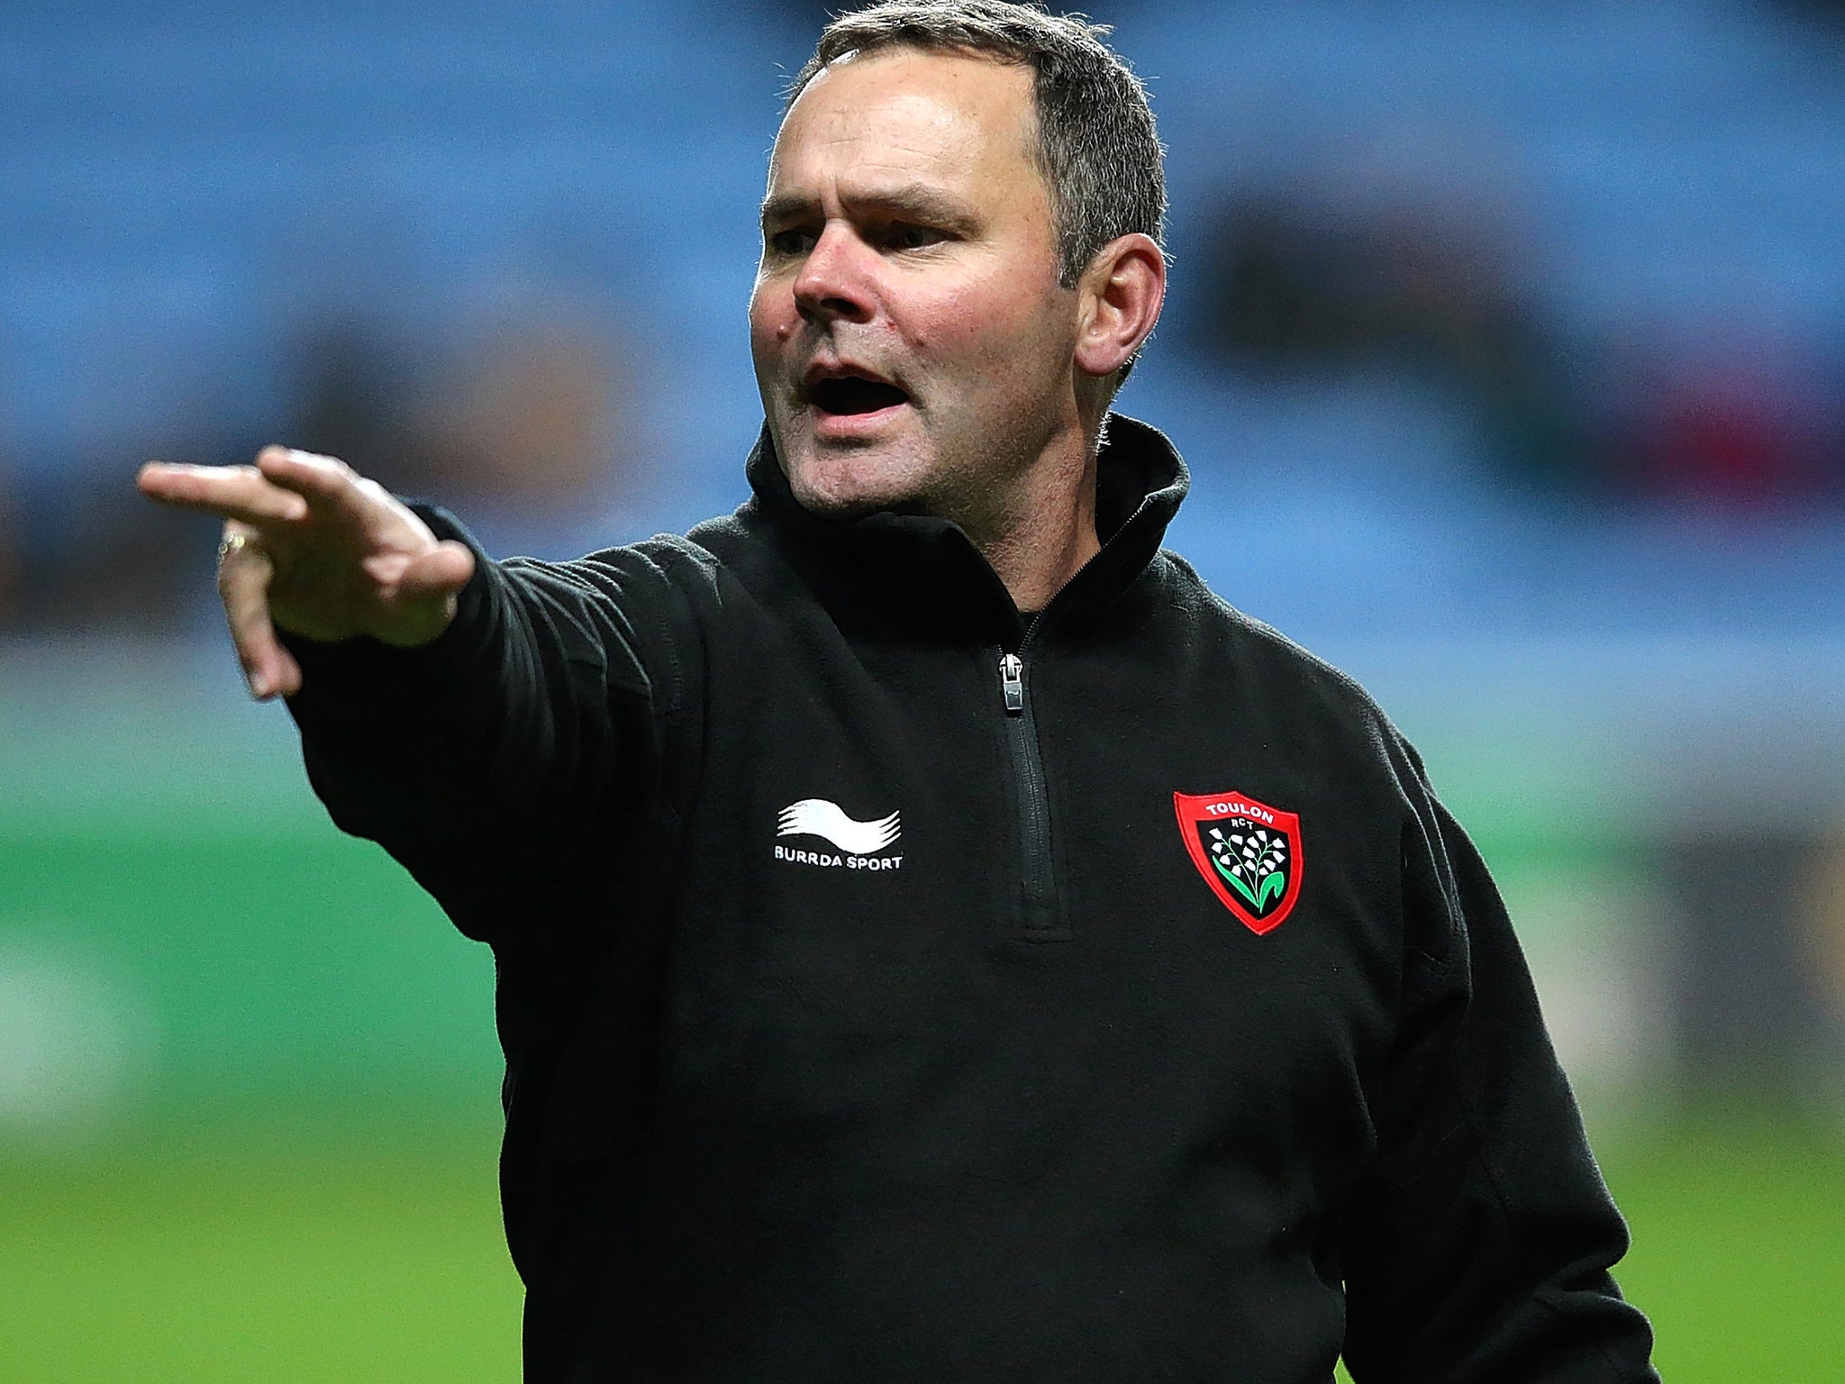
{"label": "entire blurred stadium background behind the man, seating to grass", "polygon": [[[1173,531],[1480,838],[1675,1384],[1845,1356],[1845,22],[1089,7]],[[821,6],[0,6],[0,1380],[509,1380],[491,960],[304,786],[149,456],[568,555],[742,496]],[[1201,707],[1197,714],[1227,714]]]}

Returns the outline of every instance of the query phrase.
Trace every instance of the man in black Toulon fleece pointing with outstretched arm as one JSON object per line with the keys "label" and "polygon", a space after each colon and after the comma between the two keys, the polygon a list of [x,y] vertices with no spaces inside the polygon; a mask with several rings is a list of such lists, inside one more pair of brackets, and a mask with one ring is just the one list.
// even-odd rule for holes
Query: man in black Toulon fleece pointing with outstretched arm
{"label": "man in black Toulon fleece pointing with outstretched arm", "polygon": [[1076,20],[836,20],[736,517],[491,563],[325,458],[223,515],[256,696],[498,963],[544,1380],[1651,1380],[1509,925],[1107,413],[1159,144]]}

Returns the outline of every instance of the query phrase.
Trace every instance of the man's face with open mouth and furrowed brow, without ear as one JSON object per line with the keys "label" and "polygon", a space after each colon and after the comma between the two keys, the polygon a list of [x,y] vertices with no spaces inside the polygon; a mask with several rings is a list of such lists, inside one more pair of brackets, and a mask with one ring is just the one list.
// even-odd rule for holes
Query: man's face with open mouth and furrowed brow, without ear
{"label": "man's face with open mouth and furrowed brow, without ear", "polygon": [[1031,72],[980,57],[852,57],[793,103],[749,336],[808,509],[980,511],[1072,426],[1077,295],[1035,140]]}

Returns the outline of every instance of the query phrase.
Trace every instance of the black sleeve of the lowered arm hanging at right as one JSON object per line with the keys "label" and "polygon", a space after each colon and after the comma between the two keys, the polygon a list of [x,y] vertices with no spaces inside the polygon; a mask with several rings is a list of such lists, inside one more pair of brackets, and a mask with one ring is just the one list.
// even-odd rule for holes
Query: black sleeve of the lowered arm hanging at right
{"label": "black sleeve of the lowered arm hanging at right", "polygon": [[1347,1235],[1356,1384],[1638,1384],[1651,1329],[1498,889],[1404,751],[1402,1008]]}

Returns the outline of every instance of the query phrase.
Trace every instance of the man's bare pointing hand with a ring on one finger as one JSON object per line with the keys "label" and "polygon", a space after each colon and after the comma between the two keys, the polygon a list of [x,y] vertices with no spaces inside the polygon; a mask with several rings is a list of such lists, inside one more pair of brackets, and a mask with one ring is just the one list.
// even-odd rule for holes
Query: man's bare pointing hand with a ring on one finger
{"label": "man's bare pointing hand with a ring on one finger", "polygon": [[225,520],[218,592],[258,699],[301,690],[301,664],[277,629],[419,648],[448,627],[474,574],[465,544],[437,539],[330,456],[266,447],[253,467],[149,461],[137,483],[161,504]]}

